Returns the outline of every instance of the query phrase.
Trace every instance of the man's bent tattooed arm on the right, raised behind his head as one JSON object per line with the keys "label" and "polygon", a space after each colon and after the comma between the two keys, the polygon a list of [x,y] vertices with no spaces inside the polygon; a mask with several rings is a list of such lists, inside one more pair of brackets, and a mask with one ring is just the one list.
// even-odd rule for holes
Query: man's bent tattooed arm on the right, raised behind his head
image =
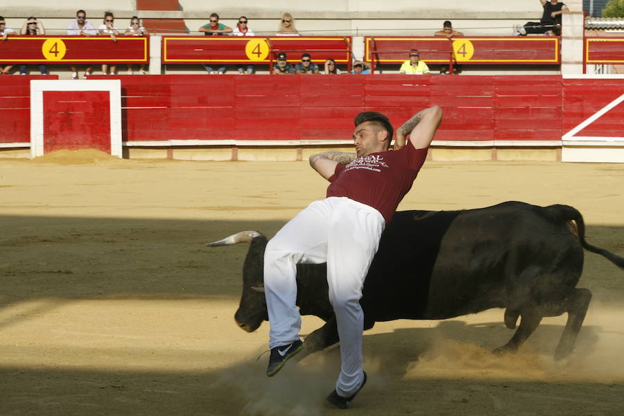
{"label": "man's bent tattooed arm on the right, raised behind his head", "polygon": [[394,149],[399,150],[405,146],[408,135],[414,148],[422,149],[428,147],[441,121],[442,109],[437,105],[417,112],[397,129]]}

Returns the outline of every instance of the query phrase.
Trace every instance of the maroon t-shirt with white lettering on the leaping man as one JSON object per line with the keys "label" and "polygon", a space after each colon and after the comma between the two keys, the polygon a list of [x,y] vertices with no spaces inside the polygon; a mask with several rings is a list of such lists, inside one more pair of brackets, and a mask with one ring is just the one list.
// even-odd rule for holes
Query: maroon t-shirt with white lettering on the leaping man
{"label": "maroon t-shirt with white lettering on the leaping man", "polygon": [[339,163],[329,177],[330,196],[346,196],[373,207],[390,223],[399,202],[412,187],[424,164],[427,149],[415,149],[410,140],[401,150],[388,150]]}

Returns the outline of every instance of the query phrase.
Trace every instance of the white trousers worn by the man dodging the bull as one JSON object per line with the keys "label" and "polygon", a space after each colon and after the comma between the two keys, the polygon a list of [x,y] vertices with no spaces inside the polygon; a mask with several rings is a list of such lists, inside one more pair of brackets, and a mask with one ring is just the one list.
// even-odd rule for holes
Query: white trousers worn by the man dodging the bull
{"label": "white trousers worn by the man dodging the bull", "polygon": [[312,202],[284,225],[264,252],[270,348],[299,339],[297,263],[327,262],[329,301],[336,313],[342,361],[336,391],[343,397],[353,395],[363,381],[364,313],[358,301],[384,226],[383,216],[368,205],[326,198]]}

